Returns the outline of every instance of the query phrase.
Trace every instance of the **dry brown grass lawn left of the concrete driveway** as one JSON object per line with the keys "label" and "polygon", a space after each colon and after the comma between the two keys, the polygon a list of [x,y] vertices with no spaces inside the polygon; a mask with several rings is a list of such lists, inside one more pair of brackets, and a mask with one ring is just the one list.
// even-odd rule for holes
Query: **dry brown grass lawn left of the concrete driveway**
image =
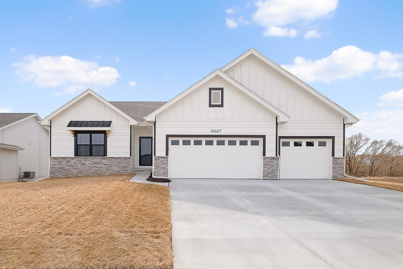
{"label": "dry brown grass lawn left of the concrete driveway", "polygon": [[0,183],[0,268],[172,268],[168,187],[131,176]]}

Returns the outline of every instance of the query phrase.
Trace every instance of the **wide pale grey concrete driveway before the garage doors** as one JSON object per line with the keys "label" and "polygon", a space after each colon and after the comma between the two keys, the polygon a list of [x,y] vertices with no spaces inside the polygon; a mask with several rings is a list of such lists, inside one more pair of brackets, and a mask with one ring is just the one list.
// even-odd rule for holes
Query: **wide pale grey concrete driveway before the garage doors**
{"label": "wide pale grey concrete driveway before the garage doors", "polygon": [[403,268],[403,192],[335,180],[169,185],[174,268]]}

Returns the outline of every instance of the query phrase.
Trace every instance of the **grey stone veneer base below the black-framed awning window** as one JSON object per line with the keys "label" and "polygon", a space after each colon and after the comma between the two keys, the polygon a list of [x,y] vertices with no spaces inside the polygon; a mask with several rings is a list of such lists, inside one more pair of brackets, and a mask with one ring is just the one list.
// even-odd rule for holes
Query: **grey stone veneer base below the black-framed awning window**
{"label": "grey stone veneer base below the black-framed awning window", "polygon": [[50,157],[50,177],[129,174],[131,157]]}

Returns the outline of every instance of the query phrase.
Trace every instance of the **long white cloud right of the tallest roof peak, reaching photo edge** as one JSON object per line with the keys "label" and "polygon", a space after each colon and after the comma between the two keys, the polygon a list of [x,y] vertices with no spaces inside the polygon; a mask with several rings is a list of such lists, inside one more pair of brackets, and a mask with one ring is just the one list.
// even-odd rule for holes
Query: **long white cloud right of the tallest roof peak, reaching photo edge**
{"label": "long white cloud right of the tallest roof peak, reaching photo edge", "polygon": [[319,60],[307,60],[298,56],[293,65],[282,67],[306,82],[330,83],[335,79],[349,79],[368,71],[380,71],[378,76],[382,77],[403,77],[402,59],[402,54],[388,51],[374,54],[356,46],[345,46]]}

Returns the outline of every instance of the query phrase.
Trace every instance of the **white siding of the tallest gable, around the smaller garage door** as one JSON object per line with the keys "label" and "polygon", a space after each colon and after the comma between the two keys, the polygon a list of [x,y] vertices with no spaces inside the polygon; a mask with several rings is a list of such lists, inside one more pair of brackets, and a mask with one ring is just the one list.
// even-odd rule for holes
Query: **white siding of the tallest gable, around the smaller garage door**
{"label": "white siding of the tallest gable, around the smaller garage door", "polygon": [[278,136],[334,136],[334,154],[343,156],[343,116],[316,96],[254,55],[225,73],[291,118]]}

